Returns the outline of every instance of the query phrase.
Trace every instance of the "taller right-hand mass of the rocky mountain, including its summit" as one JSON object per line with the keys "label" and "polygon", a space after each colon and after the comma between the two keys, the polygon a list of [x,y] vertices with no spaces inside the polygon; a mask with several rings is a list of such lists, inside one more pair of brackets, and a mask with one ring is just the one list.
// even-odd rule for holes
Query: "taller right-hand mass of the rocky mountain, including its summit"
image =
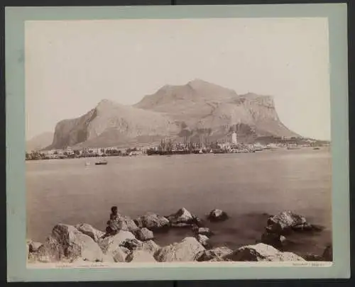
{"label": "taller right-hand mass of the rocky mountain, including its summit", "polygon": [[200,79],[184,86],[163,86],[135,106],[167,113],[190,135],[208,131],[214,140],[232,130],[240,139],[268,135],[297,136],[280,122],[271,96],[237,95],[231,89]]}

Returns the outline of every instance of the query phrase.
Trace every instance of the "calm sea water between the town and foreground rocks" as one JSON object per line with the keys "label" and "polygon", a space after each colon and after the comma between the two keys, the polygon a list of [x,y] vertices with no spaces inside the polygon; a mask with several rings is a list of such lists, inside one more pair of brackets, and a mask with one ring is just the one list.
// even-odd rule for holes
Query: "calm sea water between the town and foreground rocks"
{"label": "calm sea water between the town and foreground rocks", "polygon": [[[169,215],[185,207],[200,218],[213,208],[231,218],[208,223],[212,244],[236,248],[261,237],[268,214],[293,210],[326,229],[294,238],[297,253],[322,253],[331,242],[329,150],[250,154],[190,154],[26,162],[27,236],[43,242],[57,223],[89,223],[104,230],[111,206],[136,218],[148,211]],[[85,166],[85,162],[91,162]],[[158,244],[189,235],[185,229],[157,234]]]}

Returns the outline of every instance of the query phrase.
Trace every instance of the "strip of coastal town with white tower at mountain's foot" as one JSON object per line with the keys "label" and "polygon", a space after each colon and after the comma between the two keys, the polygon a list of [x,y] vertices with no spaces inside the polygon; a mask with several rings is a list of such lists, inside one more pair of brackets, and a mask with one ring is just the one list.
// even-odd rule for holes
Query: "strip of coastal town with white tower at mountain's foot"
{"label": "strip of coastal town with white tower at mountain's foot", "polygon": [[[270,143],[265,143],[265,141]],[[264,137],[260,142],[242,143],[237,141],[236,133],[231,133],[225,140],[215,142],[202,142],[202,140],[187,142],[186,139],[161,140],[157,145],[136,147],[65,147],[55,150],[33,150],[26,152],[26,160],[39,159],[70,159],[80,157],[112,157],[112,156],[138,156],[138,155],[168,155],[168,154],[225,154],[261,152],[263,150],[288,149],[295,150],[301,147],[329,145],[328,142],[312,140],[303,137]]]}

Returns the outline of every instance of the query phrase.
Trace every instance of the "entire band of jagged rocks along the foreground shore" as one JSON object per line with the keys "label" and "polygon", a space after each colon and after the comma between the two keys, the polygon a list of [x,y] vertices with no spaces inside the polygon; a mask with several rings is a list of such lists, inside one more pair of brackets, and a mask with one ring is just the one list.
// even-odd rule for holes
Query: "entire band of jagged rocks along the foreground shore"
{"label": "entire band of jagged rocks along the foreground shore", "polygon": [[[170,261],[332,261],[332,246],[322,255],[308,255],[305,258],[292,252],[283,252],[285,236],[290,232],[320,230],[307,220],[290,211],[284,211],[268,219],[266,232],[260,242],[232,250],[228,247],[212,247],[209,237],[212,230],[185,208],[161,216],[146,213],[136,220],[119,215],[121,230],[116,235],[107,235],[92,225],[81,223],[75,226],[58,224],[45,242],[26,242],[28,262],[170,262]],[[212,210],[210,221],[227,220],[223,210]],[[188,227],[194,232],[181,242],[160,247],[154,239],[154,232],[172,227]]]}

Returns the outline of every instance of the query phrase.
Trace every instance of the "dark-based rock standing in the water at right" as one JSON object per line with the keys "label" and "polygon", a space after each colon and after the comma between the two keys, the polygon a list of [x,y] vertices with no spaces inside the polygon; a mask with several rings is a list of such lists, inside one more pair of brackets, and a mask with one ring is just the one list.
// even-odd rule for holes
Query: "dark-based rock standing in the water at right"
{"label": "dark-based rock standing in the water at right", "polygon": [[268,227],[266,229],[269,233],[285,235],[292,230],[311,230],[312,225],[307,223],[307,220],[301,215],[297,215],[292,211],[283,211],[268,218]]}

